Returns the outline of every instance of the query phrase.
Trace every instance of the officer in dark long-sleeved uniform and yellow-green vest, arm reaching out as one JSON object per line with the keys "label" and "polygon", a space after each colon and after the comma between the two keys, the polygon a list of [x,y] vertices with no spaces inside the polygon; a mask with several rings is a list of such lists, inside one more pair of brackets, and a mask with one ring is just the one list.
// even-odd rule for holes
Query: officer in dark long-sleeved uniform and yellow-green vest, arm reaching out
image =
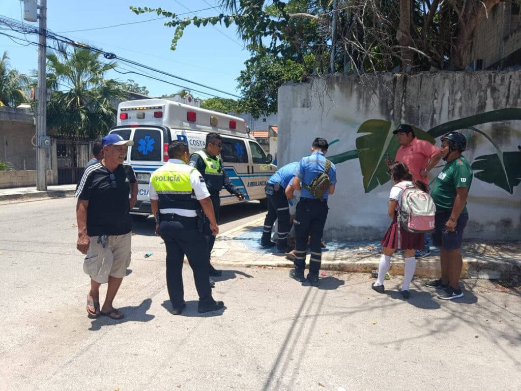
{"label": "officer in dark long-sleeved uniform and yellow-green vest, arm reaching out", "polygon": [[[222,160],[219,154],[222,150],[222,139],[217,133],[208,133],[206,135],[205,148],[192,154],[190,156],[189,165],[195,167],[201,175],[203,175],[206,187],[210,192],[210,199],[214,205],[214,214],[216,221],[219,221],[220,197],[222,187],[230,193],[235,195],[239,200],[244,199],[244,194],[237,190],[230,181],[222,165]],[[214,248],[215,236],[209,235],[206,237],[208,241],[208,254],[212,256],[212,249]],[[216,270],[210,263],[210,276],[218,277],[222,274],[221,270]],[[213,283],[213,281],[212,281]]]}

